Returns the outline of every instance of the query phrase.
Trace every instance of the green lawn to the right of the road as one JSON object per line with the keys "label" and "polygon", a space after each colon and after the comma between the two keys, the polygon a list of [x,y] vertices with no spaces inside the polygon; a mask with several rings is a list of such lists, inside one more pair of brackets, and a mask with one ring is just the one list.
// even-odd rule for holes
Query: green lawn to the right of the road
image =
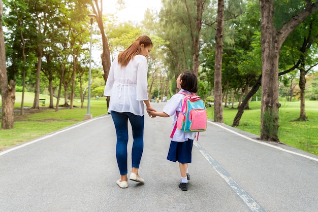
{"label": "green lawn to the right of the road", "polygon": [[[300,102],[280,102],[279,109],[279,139],[282,143],[306,152],[318,155],[318,101],[306,101],[305,111],[307,122],[293,121],[299,118]],[[240,130],[260,135],[261,131],[261,101],[249,102],[251,110],[245,110]],[[231,108],[231,106],[230,106]],[[237,110],[224,108],[224,123],[232,126]],[[213,107],[208,108],[208,118],[213,120]]]}

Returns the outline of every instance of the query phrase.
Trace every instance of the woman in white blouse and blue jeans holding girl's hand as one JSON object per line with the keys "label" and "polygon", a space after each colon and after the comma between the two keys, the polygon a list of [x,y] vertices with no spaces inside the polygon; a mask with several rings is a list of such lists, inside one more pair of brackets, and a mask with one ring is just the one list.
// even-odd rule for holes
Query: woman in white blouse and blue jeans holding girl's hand
{"label": "woman in white blouse and blue jeans holding girl's hand", "polygon": [[[141,36],[120,52],[111,64],[104,90],[105,96],[111,96],[108,112],[112,116],[117,134],[116,158],[121,176],[116,183],[120,188],[128,187],[128,120],[132,125],[134,138],[129,179],[144,183],[138,173],[144,147],[144,103],[147,112],[155,111],[150,106],[147,92],[147,57],[151,48],[151,40],[147,36]],[[150,116],[149,113],[148,115]]]}

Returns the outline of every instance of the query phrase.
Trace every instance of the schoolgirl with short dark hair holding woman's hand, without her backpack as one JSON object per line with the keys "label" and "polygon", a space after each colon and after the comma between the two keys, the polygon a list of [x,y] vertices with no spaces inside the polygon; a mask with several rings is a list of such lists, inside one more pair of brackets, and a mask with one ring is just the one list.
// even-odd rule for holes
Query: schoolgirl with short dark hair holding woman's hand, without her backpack
{"label": "schoolgirl with short dark hair holding woman's hand, without her backpack", "polygon": [[[198,79],[192,72],[183,72],[177,79],[177,88],[181,91],[191,94],[198,92]],[[165,105],[163,112],[150,111],[150,115],[154,118],[170,117],[174,116],[172,126],[175,126],[177,121],[177,115],[181,111],[181,104],[184,94],[177,93],[173,95]],[[167,159],[173,162],[179,162],[179,168],[181,173],[181,181],[179,188],[182,191],[187,191],[187,183],[190,180],[188,173],[188,163],[192,162],[192,147],[193,139],[196,136],[196,132],[184,132],[183,130],[176,129],[173,137],[171,138],[170,148]]]}

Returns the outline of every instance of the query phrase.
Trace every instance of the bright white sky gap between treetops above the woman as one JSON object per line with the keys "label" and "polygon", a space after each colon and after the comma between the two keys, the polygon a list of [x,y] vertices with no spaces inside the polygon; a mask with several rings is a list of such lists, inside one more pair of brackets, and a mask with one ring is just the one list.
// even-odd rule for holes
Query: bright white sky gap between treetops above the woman
{"label": "bright white sky gap between treetops above the woman", "polygon": [[147,8],[159,11],[161,0],[124,0],[125,8],[118,11],[117,0],[104,0],[103,12],[115,13],[120,22],[134,21],[140,23],[144,19]]}

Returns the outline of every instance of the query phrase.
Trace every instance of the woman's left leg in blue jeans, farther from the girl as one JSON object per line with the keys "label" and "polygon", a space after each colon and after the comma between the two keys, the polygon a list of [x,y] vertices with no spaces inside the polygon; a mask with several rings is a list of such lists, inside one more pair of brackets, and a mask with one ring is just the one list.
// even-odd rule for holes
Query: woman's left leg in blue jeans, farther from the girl
{"label": "woman's left leg in blue jeans, farther from the girl", "polygon": [[127,144],[128,144],[128,116],[124,113],[117,113],[111,111],[113,118],[116,135],[116,158],[117,164],[121,175],[121,181],[128,181],[127,178]]}

